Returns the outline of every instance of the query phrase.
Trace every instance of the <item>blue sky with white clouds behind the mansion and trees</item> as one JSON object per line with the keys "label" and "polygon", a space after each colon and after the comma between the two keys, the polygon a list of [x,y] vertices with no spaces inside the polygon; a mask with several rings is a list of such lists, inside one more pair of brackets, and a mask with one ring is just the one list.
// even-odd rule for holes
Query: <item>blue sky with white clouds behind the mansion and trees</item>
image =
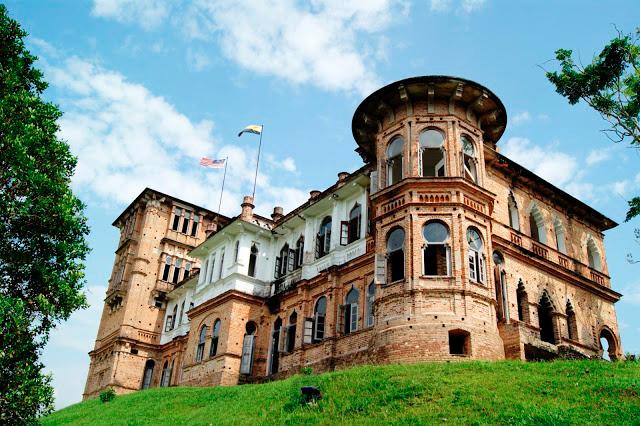
{"label": "blue sky with white clouds behind the mansion and trees", "polygon": [[[570,106],[544,77],[553,52],[583,61],[640,22],[637,1],[340,0],[160,2],[8,1],[65,112],[61,136],[78,156],[73,185],[91,225],[91,307],[52,334],[44,353],[57,406],[81,398],[117,231],[111,222],[145,186],[211,209],[220,173],[198,159],[229,157],[223,213],[250,193],[264,123],[257,209],[290,210],[311,189],[361,165],[351,117],[383,84],[447,74],[496,93],[509,114],[501,151],[622,223],[640,194],[637,150],[613,144],[605,123]],[[158,170],[162,170],[159,172]],[[606,233],[625,351],[640,353],[640,221]]]}

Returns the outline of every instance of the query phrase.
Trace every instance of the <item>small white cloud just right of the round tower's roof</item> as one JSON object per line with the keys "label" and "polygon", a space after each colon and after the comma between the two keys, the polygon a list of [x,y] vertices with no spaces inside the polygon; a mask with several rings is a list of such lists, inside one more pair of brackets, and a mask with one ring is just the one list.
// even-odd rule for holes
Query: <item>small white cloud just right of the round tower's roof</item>
{"label": "small white cloud just right of the round tower's roof", "polygon": [[513,137],[501,152],[554,185],[564,187],[578,170],[578,161],[548,146],[534,145],[529,139]]}

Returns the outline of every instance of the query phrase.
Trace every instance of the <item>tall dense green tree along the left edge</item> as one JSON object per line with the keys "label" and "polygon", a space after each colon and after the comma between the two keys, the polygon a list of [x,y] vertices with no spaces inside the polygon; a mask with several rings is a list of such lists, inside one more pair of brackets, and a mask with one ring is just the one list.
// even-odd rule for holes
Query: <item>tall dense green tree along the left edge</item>
{"label": "tall dense green tree along the left edge", "polygon": [[0,4],[0,424],[51,411],[39,357],[51,329],[86,306],[76,159],[57,137],[61,112],[41,97],[47,83],[26,36]]}

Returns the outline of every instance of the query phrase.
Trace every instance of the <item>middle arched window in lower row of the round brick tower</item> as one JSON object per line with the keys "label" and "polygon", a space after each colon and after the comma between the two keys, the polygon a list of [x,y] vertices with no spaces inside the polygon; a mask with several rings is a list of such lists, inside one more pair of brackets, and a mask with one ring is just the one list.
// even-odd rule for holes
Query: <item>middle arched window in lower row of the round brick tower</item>
{"label": "middle arched window in lower row of the round brick tower", "polygon": [[424,275],[451,275],[449,227],[443,222],[432,220],[422,227],[422,235],[425,240],[423,252]]}

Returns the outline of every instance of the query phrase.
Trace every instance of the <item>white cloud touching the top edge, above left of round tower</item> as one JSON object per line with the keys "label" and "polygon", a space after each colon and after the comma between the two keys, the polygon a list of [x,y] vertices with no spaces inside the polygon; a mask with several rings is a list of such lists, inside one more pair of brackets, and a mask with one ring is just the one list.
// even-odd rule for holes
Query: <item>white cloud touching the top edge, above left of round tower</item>
{"label": "white cloud touching the top edge, above left of round tower", "polygon": [[[94,15],[152,30],[171,17],[187,38],[218,42],[223,55],[251,72],[331,91],[369,93],[385,41],[372,36],[407,13],[400,0],[266,2],[94,0]],[[366,38],[366,40],[365,40]],[[378,46],[369,51],[368,46]]]}

